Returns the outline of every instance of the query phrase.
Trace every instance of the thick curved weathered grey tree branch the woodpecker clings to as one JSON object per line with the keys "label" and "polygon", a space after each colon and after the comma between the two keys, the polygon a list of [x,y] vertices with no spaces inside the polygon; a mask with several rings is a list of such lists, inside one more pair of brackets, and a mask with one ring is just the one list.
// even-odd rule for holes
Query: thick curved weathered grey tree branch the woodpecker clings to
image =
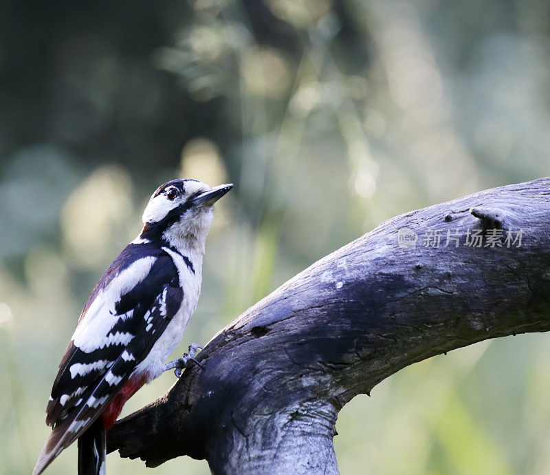
{"label": "thick curved weathered grey tree branch the woodpecker clings to", "polygon": [[[338,411],[401,368],[488,338],[550,329],[550,178],[411,211],[328,255],[223,328],[109,449],[214,474],[338,473]],[[402,226],[419,236],[402,249]],[[429,229],[439,247],[424,246]],[[483,247],[465,233],[483,230]],[[522,242],[485,246],[499,229]],[[447,231],[462,233],[445,246]],[[432,244],[431,242],[429,244]]]}

